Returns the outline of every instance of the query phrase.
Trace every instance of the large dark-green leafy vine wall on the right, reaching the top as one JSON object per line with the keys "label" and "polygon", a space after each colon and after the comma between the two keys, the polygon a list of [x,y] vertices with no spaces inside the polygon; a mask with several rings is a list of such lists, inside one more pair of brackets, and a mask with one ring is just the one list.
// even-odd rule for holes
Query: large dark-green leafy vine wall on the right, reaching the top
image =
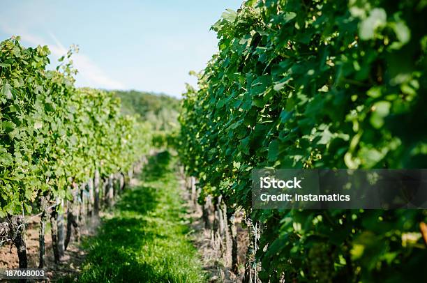
{"label": "large dark-green leafy vine wall on the right, reaching the top", "polygon": [[247,1],[213,25],[179,150],[204,195],[262,223],[262,280],[422,280],[426,211],[253,211],[250,171],[426,168],[426,6]]}

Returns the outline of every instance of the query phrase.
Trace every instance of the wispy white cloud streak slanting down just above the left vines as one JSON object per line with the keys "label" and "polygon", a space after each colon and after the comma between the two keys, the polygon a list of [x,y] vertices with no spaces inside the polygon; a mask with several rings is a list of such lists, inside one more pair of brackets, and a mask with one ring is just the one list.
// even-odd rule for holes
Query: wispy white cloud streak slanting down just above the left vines
{"label": "wispy white cloud streak slanting down just above the left vines", "polygon": [[[22,41],[31,45],[47,45],[55,59],[65,55],[68,51],[59,40],[50,33],[54,44],[49,44],[44,38],[34,36],[27,31],[20,29],[11,29],[9,26],[0,24],[0,29],[10,35],[20,36]],[[116,79],[108,77],[105,72],[94,63],[89,56],[82,53],[73,54],[71,57],[75,68],[78,70],[77,85],[91,86],[100,89],[125,89],[125,86]]]}

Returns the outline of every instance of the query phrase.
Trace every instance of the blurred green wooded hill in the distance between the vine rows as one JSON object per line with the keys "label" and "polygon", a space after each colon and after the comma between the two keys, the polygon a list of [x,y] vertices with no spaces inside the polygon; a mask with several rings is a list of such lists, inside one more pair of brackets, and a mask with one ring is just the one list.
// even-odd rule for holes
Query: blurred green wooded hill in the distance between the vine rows
{"label": "blurred green wooded hill in the distance between the vine rows", "polygon": [[153,130],[171,130],[178,125],[180,100],[164,94],[142,91],[114,91],[121,99],[123,114],[139,114]]}

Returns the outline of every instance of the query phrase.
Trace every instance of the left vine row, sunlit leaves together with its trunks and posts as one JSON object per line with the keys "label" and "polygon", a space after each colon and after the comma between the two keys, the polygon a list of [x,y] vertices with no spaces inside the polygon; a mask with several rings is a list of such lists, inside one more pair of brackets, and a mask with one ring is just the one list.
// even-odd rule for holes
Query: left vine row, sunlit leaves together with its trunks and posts
{"label": "left vine row, sunlit leaves together with its trunks and posts", "polygon": [[149,152],[147,125],[121,116],[111,93],[75,88],[72,52],[46,70],[47,47],[24,48],[17,38],[1,43],[0,237],[13,241],[20,268],[28,267],[25,215],[40,216],[38,266],[47,219],[59,262],[72,228],[79,238],[77,223],[111,206]]}

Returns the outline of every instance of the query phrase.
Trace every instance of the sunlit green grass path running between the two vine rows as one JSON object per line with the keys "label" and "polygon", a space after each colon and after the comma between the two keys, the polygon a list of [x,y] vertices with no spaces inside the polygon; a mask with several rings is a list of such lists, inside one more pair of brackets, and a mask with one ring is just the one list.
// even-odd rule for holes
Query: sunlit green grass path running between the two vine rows
{"label": "sunlit green grass path running between the two vine rows", "polygon": [[174,158],[149,160],[142,184],[121,196],[89,249],[78,282],[204,282],[187,236]]}

